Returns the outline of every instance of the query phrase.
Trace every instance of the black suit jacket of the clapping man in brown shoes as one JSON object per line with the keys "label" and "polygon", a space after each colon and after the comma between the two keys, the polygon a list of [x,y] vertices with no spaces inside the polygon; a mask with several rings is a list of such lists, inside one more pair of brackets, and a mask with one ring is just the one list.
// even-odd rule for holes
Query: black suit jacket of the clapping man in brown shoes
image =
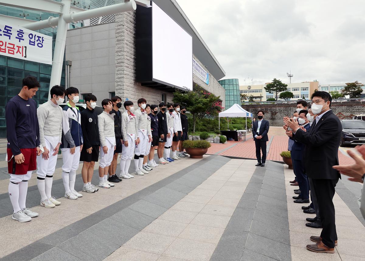
{"label": "black suit jacket of the clapping man in brown shoes", "polygon": [[339,118],[330,110],[324,114],[309,132],[299,129],[295,139],[305,144],[304,164],[306,173],[312,179],[338,179],[338,146],[342,135]]}

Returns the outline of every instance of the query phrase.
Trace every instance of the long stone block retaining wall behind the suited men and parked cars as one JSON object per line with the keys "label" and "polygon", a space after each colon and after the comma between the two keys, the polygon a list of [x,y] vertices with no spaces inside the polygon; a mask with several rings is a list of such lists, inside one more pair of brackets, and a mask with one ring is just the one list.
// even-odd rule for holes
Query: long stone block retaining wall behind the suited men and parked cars
{"label": "long stone block retaining wall behind the suited men and parked cars", "polygon": [[[271,126],[283,126],[283,117],[292,116],[296,104],[252,104],[242,105],[242,108],[257,115],[258,110],[265,111],[265,119]],[[365,114],[365,102],[333,102],[331,105],[333,113],[340,120],[351,120],[353,116]]]}

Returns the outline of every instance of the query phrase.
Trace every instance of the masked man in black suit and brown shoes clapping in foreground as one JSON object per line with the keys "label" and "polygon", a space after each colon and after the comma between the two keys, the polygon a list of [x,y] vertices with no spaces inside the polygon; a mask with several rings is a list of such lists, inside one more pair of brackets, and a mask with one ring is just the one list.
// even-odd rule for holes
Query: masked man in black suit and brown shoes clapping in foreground
{"label": "masked man in black suit and brown shoes clapping in foreground", "polygon": [[[338,146],[342,135],[339,118],[331,110],[331,95],[324,91],[312,94],[312,112],[317,114],[309,132],[301,128],[296,121],[284,117],[284,123],[293,129],[295,139],[304,143],[304,163],[311,191],[317,196],[319,217],[322,222],[320,237],[312,236],[315,245],[307,249],[317,253],[335,253],[337,243],[335,207],[333,196],[338,179]],[[316,208],[316,206],[314,206]]]}

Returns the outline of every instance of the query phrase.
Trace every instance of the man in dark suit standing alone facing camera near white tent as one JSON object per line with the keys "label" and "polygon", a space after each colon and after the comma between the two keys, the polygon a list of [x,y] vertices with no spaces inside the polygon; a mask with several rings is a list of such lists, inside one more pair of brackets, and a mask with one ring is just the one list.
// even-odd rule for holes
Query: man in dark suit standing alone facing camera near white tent
{"label": "man in dark suit standing alone facing camera near white tent", "polygon": [[[269,141],[268,131],[269,131],[269,122],[264,120],[264,111],[259,110],[257,112],[257,121],[254,121],[252,124],[252,135],[255,141],[256,146],[256,158],[257,164],[255,166],[265,166],[266,161],[266,141]],[[261,152],[262,151],[262,157]]]}

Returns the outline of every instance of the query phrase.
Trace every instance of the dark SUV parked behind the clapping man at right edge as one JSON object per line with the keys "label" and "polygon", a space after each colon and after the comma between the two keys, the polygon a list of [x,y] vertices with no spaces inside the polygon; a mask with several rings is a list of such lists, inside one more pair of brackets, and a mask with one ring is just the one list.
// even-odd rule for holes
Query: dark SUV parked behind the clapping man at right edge
{"label": "dark SUV parked behind the clapping man at right edge", "polygon": [[340,146],[365,144],[365,121],[341,120]]}

